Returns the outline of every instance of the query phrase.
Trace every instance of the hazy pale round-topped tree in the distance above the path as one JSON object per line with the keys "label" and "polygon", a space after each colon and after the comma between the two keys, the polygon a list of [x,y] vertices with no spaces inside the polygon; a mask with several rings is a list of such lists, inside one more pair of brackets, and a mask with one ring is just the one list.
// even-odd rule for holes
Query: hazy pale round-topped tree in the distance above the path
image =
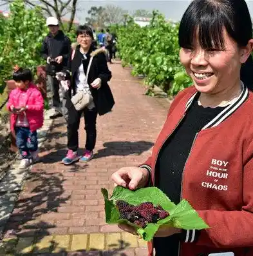
{"label": "hazy pale round-topped tree in the distance above the path", "polygon": [[126,14],[126,10],[123,10],[116,5],[106,5],[106,7],[104,8],[104,15],[106,15],[107,25],[124,23]]}

